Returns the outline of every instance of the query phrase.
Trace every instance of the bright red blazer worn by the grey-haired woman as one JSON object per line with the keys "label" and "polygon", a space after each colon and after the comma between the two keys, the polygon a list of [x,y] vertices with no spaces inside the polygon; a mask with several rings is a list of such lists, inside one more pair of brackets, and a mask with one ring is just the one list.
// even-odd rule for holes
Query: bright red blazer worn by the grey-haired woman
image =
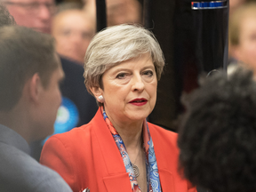
{"label": "bright red blazer worn by the grey-haired woman", "polygon": [[[177,134],[148,123],[163,192],[196,192],[177,172]],[[44,144],[41,164],[68,182],[73,191],[132,192],[128,173],[100,110],[89,124],[53,135]]]}

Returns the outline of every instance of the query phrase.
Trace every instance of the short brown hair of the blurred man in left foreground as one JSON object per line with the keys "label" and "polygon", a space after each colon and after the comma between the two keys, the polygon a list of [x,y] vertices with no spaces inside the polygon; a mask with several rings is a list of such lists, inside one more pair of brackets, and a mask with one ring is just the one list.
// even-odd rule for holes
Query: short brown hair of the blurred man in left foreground
{"label": "short brown hair of the blurred man in left foreground", "polygon": [[46,88],[59,65],[51,36],[19,26],[0,28],[0,110],[15,106],[36,73]]}

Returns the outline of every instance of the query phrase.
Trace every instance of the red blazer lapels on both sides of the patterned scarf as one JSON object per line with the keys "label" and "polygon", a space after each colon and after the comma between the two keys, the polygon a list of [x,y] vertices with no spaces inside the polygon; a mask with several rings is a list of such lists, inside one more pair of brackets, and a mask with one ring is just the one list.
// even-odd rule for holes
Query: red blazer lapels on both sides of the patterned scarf
{"label": "red blazer lapels on both sides of the patterned scarf", "polygon": [[[120,156],[119,150],[116,146],[116,142],[112,137],[111,132],[108,130],[108,125],[105,123],[103,116],[101,114],[100,108],[98,109],[96,115],[92,119],[92,124],[94,124],[93,130],[96,133],[98,138],[98,142],[100,144],[101,153],[103,155],[104,161],[106,163],[106,167],[108,170],[108,177],[103,178],[108,191],[117,192],[120,188],[113,188],[115,183],[122,188],[124,192],[131,192],[131,184],[129,180],[128,173],[125,170],[124,162],[122,157]],[[152,135],[155,135],[155,130],[151,128],[151,124],[148,124],[149,132]],[[156,133],[157,134],[157,133]],[[160,182],[162,191],[174,191],[174,183],[172,179],[172,172],[167,170],[167,166],[164,160],[162,146],[157,142],[160,138],[152,137],[155,153],[156,153],[156,161],[158,166],[158,171],[160,174]],[[157,151],[157,152],[156,152]],[[114,163],[115,162],[115,163]],[[170,183],[171,182],[171,183]],[[127,186],[127,188],[126,188]],[[129,186],[129,187],[128,187]]]}

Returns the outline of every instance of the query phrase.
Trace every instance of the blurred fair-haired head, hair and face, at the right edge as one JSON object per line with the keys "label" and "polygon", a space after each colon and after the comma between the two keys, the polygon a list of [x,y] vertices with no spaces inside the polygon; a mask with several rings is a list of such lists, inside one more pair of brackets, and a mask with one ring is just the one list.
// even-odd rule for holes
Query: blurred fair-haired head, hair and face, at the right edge
{"label": "blurred fair-haired head, hair and face, at the right edge", "polygon": [[230,15],[229,54],[235,60],[228,73],[236,68],[236,62],[256,73],[256,3],[244,4]]}

